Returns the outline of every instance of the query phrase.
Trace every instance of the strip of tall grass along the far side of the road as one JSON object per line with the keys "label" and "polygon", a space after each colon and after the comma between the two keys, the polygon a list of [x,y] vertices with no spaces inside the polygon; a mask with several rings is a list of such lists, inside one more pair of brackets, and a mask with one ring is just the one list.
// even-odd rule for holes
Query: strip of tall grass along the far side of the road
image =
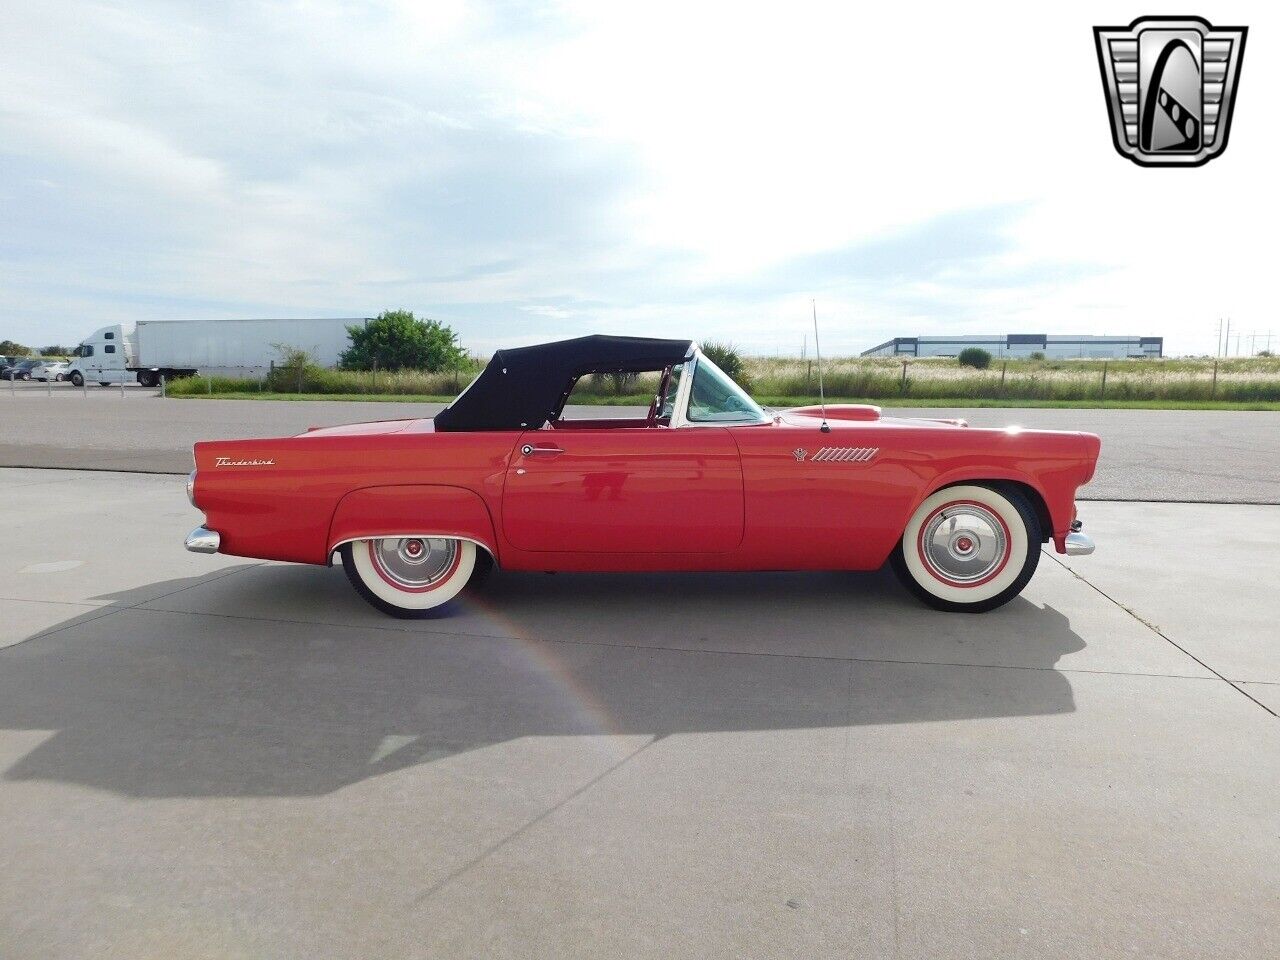
{"label": "strip of tall grass along the far side of the road", "polygon": [[[262,381],[192,378],[169,387],[170,396],[262,399],[360,399],[447,402],[475,375],[474,369],[428,374],[388,374],[307,367],[275,370]],[[817,402],[818,374],[795,357],[748,357],[744,385],[768,406]],[[837,357],[827,361],[824,384],[831,402],[882,406],[1070,406],[1280,410],[1280,360],[996,360],[987,370],[955,360]],[[584,378],[571,402],[644,406],[653,376],[618,385]]]}

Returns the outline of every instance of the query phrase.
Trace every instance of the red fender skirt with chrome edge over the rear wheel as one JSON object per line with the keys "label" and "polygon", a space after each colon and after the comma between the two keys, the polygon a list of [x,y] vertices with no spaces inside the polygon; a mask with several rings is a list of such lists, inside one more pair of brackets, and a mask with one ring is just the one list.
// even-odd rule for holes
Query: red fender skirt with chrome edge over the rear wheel
{"label": "red fender skirt with chrome edge over the rear wheel", "polygon": [[366,486],[338,500],[326,557],[351,540],[381,536],[453,536],[484,547],[498,561],[493,517],[480,495],[462,486]]}

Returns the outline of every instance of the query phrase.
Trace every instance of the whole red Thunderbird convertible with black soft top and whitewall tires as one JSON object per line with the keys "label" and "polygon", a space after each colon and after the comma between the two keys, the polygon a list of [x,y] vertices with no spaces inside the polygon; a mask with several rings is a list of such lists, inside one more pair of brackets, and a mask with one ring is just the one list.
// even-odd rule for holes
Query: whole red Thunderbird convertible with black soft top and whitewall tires
{"label": "whole red Thunderbird convertible with black soft top and whitewall tires", "polygon": [[[567,419],[579,378],[657,372],[643,417]],[[1041,544],[1092,553],[1085,433],[989,430],[831,404],[767,411],[690,340],[503,349],[434,419],[197,443],[198,553],[332,563],[399,617],[492,566],[525,571],[876,570],[989,611]]]}

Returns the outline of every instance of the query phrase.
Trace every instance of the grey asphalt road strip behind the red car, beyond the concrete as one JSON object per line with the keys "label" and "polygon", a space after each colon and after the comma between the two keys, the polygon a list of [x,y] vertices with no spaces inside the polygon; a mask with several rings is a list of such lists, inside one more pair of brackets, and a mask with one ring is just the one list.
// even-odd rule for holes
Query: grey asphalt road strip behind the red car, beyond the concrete
{"label": "grey asphalt road strip behind the red car, beyond the concrete", "polygon": [[[187,472],[191,445],[312,425],[430,416],[434,403],[160,399],[138,387],[0,384],[0,466]],[[590,407],[593,416],[628,408]],[[634,411],[630,411],[634,415]],[[1280,413],[1157,410],[902,410],[977,426],[1089,430],[1102,457],[1082,499],[1280,503]]]}

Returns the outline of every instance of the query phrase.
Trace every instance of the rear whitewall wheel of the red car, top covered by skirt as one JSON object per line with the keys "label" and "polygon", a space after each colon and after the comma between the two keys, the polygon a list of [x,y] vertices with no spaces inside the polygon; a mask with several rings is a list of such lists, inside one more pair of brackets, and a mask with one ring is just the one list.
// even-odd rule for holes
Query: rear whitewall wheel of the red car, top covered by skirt
{"label": "rear whitewall wheel of the red car, top covered by skirt", "polygon": [[470,540],[443,536],[355,540],[340,548],[356,593],[393,617],[436,617],[489,572],[489,554]]}

